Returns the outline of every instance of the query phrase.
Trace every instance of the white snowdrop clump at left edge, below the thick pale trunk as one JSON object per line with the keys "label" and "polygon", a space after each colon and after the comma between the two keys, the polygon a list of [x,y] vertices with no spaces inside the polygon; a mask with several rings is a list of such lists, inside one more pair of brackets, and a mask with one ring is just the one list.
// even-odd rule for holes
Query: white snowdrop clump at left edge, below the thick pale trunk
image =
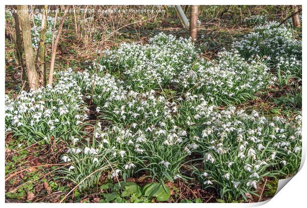
{"label": "white snowdrop clump at left edge, below the thick pale trunk", "polygon": [[88,108],[72,70],[58,73],[54,87],[22,91],[16,99],[5,96],[5,131],[21,141],[37,142],[51,137],[69,140],[81,135]]}

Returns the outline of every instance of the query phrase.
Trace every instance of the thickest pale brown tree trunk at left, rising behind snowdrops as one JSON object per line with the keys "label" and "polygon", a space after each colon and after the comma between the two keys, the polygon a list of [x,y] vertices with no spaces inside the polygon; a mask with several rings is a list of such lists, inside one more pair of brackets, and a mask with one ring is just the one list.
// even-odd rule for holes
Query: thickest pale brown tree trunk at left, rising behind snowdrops
{"label": "thickest pale brown tree trunk at left, rising behind snowdrops", "polygon": [[26,58],[26,69],[28,74],[29,86],[31,89],[35,90],[39,87],[38,78],[35,69],[34,62],[34,52],[31,40],[31,23],[29,18],[28,6],[18,5],[18,10],[23,10],[26,12],[19,12],[18,15],[21,19],[21,29],[22,29],[22,39]]}

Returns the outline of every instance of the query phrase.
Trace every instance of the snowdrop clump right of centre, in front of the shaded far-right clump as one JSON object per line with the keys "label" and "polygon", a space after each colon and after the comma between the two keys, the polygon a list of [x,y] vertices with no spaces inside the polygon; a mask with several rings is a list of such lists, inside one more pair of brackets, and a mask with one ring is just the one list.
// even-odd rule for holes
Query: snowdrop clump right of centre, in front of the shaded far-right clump
{"label": "snowdrop clump right of centre, in front of the shaded far-right clump", "polygon": [[179,73],[179,92],[202,94],[215,104],[241,104],[267,87],[268,67],[259,60],[248,63],[238,51],[218,53],[214,62],[201,59],[193,68],[184,67]]}

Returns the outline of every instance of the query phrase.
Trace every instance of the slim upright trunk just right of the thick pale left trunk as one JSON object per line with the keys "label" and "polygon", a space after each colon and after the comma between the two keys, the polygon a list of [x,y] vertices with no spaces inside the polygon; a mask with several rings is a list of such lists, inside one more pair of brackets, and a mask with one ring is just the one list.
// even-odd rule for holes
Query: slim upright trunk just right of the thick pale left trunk
{"label": "slim upright trunk just right of the thick pale left trunk", "polygon": [[43,78],[44,86],[47,84],[47,74],[46,74],[46,31],[47,31],[47,15],[48,15],[48,5],[44,5],[44,12],[42,18],[42,30],[40,35],[40,61],[39,67],[41,71],[41,78]]}

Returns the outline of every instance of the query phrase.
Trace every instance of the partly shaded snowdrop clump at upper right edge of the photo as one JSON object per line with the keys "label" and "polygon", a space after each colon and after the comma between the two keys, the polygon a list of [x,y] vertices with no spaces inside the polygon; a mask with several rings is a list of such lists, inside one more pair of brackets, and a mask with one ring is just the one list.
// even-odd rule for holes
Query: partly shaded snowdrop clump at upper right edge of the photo
{"label": "partly shaded snowdrop clump at upper right edge of the photo", "polygon": [[302,41],[294,38],[292,30],[278,22],[266,22],[254,27],[254,31],[235,43],[246,58],[260,56],[276,71],[277,79],[302,79]]}

